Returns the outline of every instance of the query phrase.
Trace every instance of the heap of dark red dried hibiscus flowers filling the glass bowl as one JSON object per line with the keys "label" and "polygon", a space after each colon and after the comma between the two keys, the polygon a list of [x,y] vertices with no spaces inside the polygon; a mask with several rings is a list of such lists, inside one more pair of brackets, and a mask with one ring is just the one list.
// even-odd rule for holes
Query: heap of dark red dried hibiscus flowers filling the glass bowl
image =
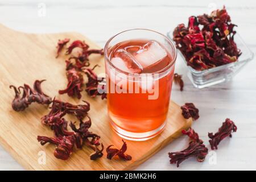
{"label": "heap of dark red dried hibiscus flowers filling the glass bowl", "polygon": [[234,42],[235,26],[224,6],[210,15],[189,17],[188,27],[179,24],[173,39],[189,66],[196,70],[209,69],[238,60],[241,51]]}

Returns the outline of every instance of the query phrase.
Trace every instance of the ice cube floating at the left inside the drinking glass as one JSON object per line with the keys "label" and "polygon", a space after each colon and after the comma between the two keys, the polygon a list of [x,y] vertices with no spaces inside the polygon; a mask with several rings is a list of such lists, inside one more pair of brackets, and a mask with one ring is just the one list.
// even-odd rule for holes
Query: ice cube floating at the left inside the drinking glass
{"label": "ice cube floating at the left inside the drinking glass", "polygon": [[115,57],[111,60],[115,67],[121,69],[127,73],[141,73],[142,67],[135,61],[133,55],[125,51],[125,49],[119,49],[115,53]]}

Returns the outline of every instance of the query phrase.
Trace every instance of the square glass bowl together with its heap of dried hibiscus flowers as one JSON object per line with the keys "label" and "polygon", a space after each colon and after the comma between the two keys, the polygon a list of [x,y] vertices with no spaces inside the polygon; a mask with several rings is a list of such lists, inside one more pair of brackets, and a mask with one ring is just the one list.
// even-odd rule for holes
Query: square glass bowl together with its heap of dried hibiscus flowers
{"label": "square glass bowl together with its heap of dried hibiscus flowers", "polygon": [[[188,65],[188,77],[196,88],[226,82],[253,59],[253,52],[236,34],[225,6],[210,15],[190,16],[167,33]],[[236,35],[235,35],[236,34]]]}

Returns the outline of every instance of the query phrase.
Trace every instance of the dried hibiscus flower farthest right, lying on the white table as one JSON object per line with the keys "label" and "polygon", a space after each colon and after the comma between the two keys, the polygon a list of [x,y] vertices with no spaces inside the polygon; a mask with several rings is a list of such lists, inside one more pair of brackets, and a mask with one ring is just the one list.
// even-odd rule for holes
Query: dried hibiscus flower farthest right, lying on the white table
{"label": "dried hibiscus flower farthest right, lying on the white table", "polygon": [[210,147],[212,150],[218,149],[218,144],[226,137],[232,137],[232,132],[237,131],[237,126],[229,118],[226,118],[226,121],[222,123],[222,126],[218,129],[218,132],[213,135],[213,133],[208,133],[210,138]]}

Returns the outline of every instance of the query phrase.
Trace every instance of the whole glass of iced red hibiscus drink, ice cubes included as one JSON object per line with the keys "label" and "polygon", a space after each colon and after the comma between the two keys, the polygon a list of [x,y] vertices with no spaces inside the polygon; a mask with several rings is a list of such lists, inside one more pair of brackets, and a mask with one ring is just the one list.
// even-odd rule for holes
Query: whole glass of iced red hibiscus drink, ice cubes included
{"label": "whole glass of iced red hibiscus drink, ice cubes included", "polygon": [[113,36],[104,54],[113,129],[130,140],[155,137],[166,125],[175,46],[158,32],[134,29]]}

